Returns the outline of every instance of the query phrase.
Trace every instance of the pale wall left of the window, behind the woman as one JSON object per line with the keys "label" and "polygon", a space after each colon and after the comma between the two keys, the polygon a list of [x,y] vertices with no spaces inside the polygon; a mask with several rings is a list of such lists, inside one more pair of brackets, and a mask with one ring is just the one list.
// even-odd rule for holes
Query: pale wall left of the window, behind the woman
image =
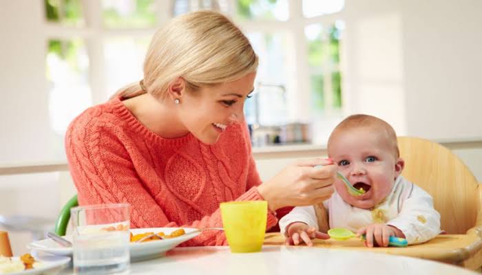
{"label": "pale wall left of the window, behind the woman", "polygon": [[42,4],[25,0],[1,3],[0,164],[45,161],[56,146],[50,142],[54,133],[45,130],[50,129],[50,122]]}

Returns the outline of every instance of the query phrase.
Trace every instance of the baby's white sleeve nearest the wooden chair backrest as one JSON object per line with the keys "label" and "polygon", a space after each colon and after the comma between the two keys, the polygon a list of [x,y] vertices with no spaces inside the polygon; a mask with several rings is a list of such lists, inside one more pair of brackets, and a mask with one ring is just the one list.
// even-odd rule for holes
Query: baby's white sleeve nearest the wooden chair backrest
{"label": "baby's white sleeve nearest the wooden chair backrest", "polygon": [[404,232],[410,245],[430,241],[441,232],[440,214],[433,207],[432,197],[415,184],[398,216],[387,224]]}

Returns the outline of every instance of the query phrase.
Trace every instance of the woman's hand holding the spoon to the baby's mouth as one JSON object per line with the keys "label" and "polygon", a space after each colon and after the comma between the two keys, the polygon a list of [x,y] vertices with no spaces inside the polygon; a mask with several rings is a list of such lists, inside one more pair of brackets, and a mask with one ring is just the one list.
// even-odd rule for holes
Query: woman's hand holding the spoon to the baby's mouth
{"label": "woman's hand holding the spoon to the baby's mouth", "polygon": [[[322,165],[323,167],[315,168]],[[284,206],[310,206],[331,197],[337,166],[331,159],[305,159],[286,166],[258,186],[271,210]]]}

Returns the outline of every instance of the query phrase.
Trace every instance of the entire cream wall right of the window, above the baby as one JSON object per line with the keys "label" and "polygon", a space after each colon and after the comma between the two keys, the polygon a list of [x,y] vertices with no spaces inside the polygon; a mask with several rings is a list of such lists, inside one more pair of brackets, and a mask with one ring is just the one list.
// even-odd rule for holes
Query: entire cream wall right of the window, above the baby
{"label": "entire cream wall right of the window, above the baby", "polygon": [[346,2],[346,111],[399,135],[482,137],[482,1]]}

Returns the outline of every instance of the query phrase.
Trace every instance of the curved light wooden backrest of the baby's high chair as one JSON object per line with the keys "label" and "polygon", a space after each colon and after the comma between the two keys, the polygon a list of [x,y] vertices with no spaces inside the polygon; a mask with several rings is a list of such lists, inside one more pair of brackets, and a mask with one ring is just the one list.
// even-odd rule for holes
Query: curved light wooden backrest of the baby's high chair
{"label": "curved light wooden backrest of the baby's high chair", "polygon": [[417,137],[398,137],[405,160],[402,175],[426,190],[448,234],[482,232],[482,188],[467,166],[448,148]]}

